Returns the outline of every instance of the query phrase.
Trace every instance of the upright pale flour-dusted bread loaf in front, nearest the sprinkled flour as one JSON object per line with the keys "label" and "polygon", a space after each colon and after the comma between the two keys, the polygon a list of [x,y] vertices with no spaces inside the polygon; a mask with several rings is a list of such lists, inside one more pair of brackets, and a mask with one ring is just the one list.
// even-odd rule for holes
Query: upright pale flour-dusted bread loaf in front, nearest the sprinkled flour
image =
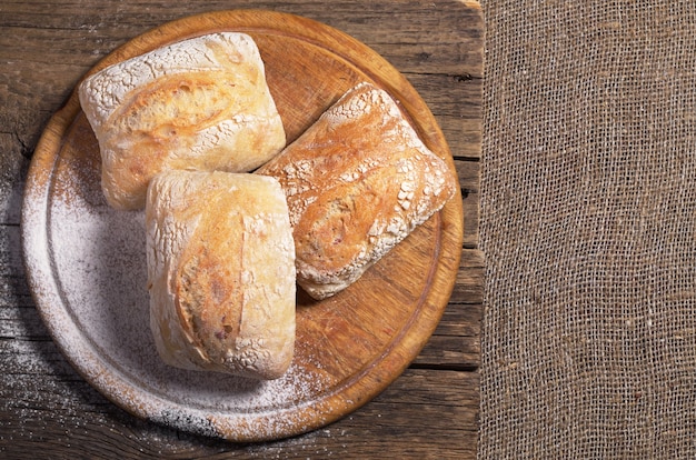
{"label": "upright pale flour-dusted bread loaf in front, nearest the sprinkled flour", "polygon": [[146,206],[150,326],[162,360],[280,377],[295,347],[295,248],[277,180],[166,171]]}

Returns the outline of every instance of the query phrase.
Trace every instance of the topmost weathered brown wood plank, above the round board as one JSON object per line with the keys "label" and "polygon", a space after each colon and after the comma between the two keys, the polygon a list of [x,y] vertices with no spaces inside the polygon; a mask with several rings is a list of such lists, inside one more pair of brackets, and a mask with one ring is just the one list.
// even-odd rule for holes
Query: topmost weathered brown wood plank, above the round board
{"label": "topmost weathered brown wood plank, above the round board", "polygon": [[[407,74],[422,93],[443,124],[453,152],[478,156],[480,108],[476,102],[458,102],[480,99],[483,20],[480,11],[464,8],[458,1],[332,2],[331,8],[322,2],[278,4],[249,0],[233,6],[226,1],[172,4],[109,0],[96,8],[78,1],[3,2],[0,100],[12,110],[0,110],[0,132],[17,138],[0,138],[0,147],[21,151],[36,144],[48,117],[66,100],[77,80],[116,47],[162,22],[230,8],[302,14],[366,42]],[[395,8],[399,10],[398,21]]]}

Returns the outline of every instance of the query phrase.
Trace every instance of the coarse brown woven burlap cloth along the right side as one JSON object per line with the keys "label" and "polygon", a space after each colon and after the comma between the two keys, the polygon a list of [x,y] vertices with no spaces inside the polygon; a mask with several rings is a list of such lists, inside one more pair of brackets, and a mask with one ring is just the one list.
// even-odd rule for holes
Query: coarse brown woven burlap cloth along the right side
{"label": "coarse brown woven burlap cloth along the right side", "polygon": [[479,458],[696,458],[696,1],[483,2]]}

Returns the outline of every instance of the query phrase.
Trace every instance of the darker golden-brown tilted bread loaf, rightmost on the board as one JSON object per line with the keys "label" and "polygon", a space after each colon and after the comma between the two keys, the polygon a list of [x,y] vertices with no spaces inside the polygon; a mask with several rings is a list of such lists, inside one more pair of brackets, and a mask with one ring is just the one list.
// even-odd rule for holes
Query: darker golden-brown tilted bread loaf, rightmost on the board
{"label": "darker golden-brown tilted bread loaf, rightmost on the board", "polygon": [[257,172],[286,192],[298,283],[316,299],[355,282],[458,187],[389,94],[369,83]]}

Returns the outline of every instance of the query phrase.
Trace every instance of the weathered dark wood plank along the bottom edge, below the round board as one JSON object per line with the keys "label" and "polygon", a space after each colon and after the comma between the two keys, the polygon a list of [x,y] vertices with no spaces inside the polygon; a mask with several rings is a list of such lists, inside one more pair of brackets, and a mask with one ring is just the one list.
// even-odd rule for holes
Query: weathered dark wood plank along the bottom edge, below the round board
{"label": "weathered dark wood plank along the bottom edge, below the round board", "polygon": [[[54,459],[170,459],[243,454],[246,458],[473,458],[476,446],[478,373],[408,370],[382,394],[352,414],[315,432],[276,442],[235,444],[181,433],[138,420],[79,379],[12,376],[3,387],[0,452]],[[399,442],[408,440],[408,442]]]}

